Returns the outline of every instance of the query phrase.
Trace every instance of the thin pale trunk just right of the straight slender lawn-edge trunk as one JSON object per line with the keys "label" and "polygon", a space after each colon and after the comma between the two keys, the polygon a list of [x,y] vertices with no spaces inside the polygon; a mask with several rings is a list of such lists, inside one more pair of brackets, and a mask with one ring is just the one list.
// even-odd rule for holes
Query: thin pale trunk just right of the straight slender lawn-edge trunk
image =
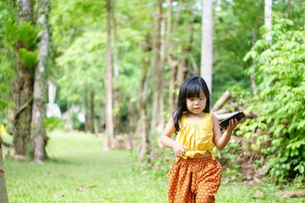
{"label": "thin pale trunk just right of the straight slender lawn-edge trunk", "polygon": [[119,87],[118,87],[118,76],[119,76],[119,67],[118,67],[118,58],[117,58],[117,31],[116,31],[116,17],[115,17],[115,6],[116,1],[113,0],[113,8],[112,8],[112,18],[113,18],[113,68],[114,68],[114,103],[113,108],[115,109],[115,120],[114,120],[114,128],[115,132],[118,133],[120,129],[120,120],[119,115]]}

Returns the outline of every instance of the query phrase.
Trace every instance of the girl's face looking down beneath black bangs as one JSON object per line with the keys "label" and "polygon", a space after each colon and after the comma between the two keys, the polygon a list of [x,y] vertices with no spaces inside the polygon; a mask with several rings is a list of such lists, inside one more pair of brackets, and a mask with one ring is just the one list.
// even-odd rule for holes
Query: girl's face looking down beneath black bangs
{"label": "girl's face looking down beneath black bangs", "polygon": [[199,114],[205,109],[206,96],[204,95],[202,89],[200,90],[199,98],[187,98],[187,108],[189,113]]}

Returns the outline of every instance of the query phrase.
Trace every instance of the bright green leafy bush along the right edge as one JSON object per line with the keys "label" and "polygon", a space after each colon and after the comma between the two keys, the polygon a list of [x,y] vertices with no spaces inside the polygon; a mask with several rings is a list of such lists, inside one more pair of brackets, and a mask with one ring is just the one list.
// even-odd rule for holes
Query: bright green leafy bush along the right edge
{"label": "bright green leafy bush along the right edge", "polygon": [[[254,73],[259,82],[258,96],[245,105],[259,117],[244,122],[239,133],[247,137],[260,129],[253,149],[267,154],[273,180],[286,182],[304,175],[305,31],[274,15],[270,34],[272,42],[257,41],[245,56],[245,60],[257,60]],[[265,149],[261,148],[263,141],[270,143]]]}

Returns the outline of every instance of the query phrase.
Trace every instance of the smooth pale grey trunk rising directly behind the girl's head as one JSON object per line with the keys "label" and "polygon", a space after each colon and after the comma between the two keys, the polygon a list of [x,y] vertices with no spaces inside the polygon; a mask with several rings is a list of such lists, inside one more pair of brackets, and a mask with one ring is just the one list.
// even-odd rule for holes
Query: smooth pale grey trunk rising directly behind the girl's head
{"label": "smooth pale grey trunk rising directly behind the girl's head", "polygon": [[205,80],[209,92],[212,93],[212,0],[202,0],[201,21],[201,64],[200,76]]}

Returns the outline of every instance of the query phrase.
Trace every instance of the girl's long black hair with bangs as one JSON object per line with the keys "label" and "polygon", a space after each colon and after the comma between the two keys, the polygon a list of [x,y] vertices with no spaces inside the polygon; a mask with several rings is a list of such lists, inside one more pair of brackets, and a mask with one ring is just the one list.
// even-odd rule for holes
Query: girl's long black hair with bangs
{"label": "girl's long black hair with bangs", "polygon": [[174,112],[176,113],[174,116],[174,125],[176,132],[180,131],[179,121],[183,115],[183,112],[188,111],[186,102],[187,98],[199,98],[200,90],[203,91],[206,97],[206,105],[203,112],[209,113],[211,105],[211,95],[203,78],[201,78],[200,76],[192,76],[182,82],[178,95],[177,110]]}

